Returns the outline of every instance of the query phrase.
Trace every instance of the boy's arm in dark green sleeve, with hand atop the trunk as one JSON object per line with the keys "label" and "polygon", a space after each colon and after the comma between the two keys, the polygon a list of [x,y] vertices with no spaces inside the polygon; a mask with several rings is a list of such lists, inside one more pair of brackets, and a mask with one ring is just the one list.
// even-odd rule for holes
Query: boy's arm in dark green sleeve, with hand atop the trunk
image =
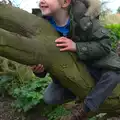
{"label": "boy's arm in dark green sleeve, with hand atop the trunk", "polygon": [[[84,35],[82,35],[82,37],[84,37]],[[66,37],[60,37],[56,39],[55,42],[56,46],[60,47],[61,52],[76,52],[78,58],[83,61],[94,61],[107,56],[111,51],[111,42],[107,31],[103,27],[100,27],[91,33],[91,36],[92,38],[89,36],[85,42],[78,40],[75,43]]]}

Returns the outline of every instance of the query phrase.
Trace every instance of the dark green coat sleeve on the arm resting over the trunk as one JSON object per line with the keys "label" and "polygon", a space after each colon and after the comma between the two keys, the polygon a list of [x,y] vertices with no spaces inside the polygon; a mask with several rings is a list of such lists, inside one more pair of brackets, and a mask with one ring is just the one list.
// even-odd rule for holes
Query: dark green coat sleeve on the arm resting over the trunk
{"label": "dark green coat sleeve on the arm resting over the trunk", "polygon": [[87,37],[87,41],[76,42],[78,58],[80,60],[96,60],[108,55],[111,51],[109,32],[94,21],[89,33],[91,37]]}

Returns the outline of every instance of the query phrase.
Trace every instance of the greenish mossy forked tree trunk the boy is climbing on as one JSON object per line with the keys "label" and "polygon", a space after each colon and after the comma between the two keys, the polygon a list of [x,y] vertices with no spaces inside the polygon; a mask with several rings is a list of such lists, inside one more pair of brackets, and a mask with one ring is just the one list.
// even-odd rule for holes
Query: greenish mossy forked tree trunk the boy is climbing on
{"label": "greenish mossy forked tree trunk the boy is climbing on", "polygon": [[[94,87],[94,80],[74,53],[59,51],[54,42],[58,37],[58,33],[42,18],[0,4],[0,56],[25,65],[43,64],[82,101]],[[119,91],[118,85],[114,96],[101,105],[100,112],[120,113]]]}

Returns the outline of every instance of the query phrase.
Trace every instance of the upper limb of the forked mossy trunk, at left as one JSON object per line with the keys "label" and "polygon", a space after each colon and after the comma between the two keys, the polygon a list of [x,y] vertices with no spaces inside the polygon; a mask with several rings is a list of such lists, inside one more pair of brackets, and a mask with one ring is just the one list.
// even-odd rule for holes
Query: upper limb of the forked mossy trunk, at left
{"label": "upper limb of the forked mossy trunk, at left", "polygon": [[[47,29],[45,26],[47,26]],[[48,35],[53,33],[53,28],[43,18],[4,4],[0,4],[0,28],[26,37],[31,37],[38,33],[42,35],[46,34],[46,32]]]}

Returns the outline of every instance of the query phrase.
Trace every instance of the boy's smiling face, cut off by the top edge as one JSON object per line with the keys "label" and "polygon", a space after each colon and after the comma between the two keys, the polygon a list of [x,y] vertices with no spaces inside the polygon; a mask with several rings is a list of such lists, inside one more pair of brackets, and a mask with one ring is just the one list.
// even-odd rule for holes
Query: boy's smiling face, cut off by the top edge
{"label": "boy's smiling face, cut off by the top edge", "polygon": [[64,6],[64,0],[40,0],[39,7],[43,15],[53,15]]}

